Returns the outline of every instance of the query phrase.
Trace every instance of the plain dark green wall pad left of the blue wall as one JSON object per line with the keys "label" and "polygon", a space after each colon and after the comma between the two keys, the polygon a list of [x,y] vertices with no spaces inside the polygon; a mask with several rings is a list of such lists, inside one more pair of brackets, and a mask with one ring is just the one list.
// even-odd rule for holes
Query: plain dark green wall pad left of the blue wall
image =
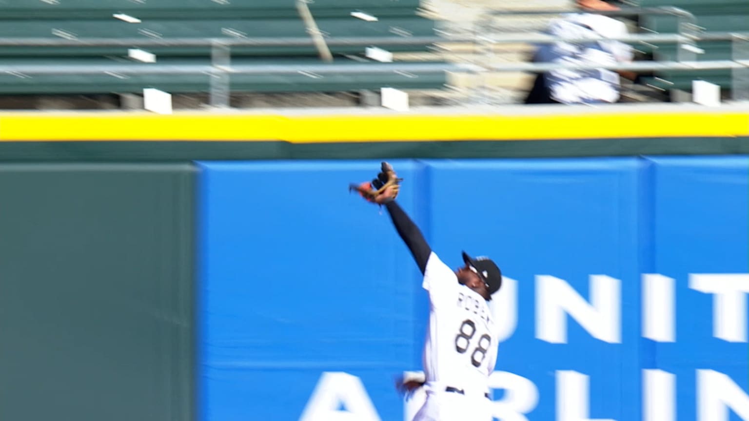
{"label": "plain dark green wall pad left of the blue wall", "polygon": [[193,420],[192,179],[0,164],[0,420]]}

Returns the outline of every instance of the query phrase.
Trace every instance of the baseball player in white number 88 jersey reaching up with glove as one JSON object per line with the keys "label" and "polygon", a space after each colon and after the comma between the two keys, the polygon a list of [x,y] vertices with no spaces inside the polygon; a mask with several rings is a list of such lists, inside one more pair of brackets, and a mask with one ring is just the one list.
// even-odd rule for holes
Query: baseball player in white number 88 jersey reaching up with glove
{"label": "baseball player in white number 88 jersey reaching up with glove", "polygon": [[498,332],[489,308],[502,273],[488,258],[463,252],[453,271],[432,251],[422,232],[395,202],[399,182],[388,163],[372,183],[354,186],[384,206],[424,278],[430,310],[422,354],[425,381],[404,381],[401,391],[424,387],[426,400],[413,421],[491,421],[488,378],[497,362]]}

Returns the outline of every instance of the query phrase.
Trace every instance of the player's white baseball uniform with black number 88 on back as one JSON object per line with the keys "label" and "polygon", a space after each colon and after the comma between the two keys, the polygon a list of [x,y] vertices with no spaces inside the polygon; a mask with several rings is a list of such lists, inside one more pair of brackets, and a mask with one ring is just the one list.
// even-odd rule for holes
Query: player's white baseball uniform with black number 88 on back
{"label": "player's white baseball uniform with black number 88 on back", "polygon": [[426,401],[413,421],[491,421],[488,379],[497,363],[498,332],[488,302],[458,283],[434,252],[422,286],[430,301],[422,355]]}

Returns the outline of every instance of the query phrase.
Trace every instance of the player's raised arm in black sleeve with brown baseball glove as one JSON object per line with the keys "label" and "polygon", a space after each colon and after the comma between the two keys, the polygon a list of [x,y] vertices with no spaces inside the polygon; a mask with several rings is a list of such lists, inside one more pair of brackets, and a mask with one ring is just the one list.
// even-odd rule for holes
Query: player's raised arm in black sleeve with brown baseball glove
{"label": "player's raised arm in black sleeve with brown baseball glove", "polygon": [[416,264],[419,265],[419,270],[425,273],[426,264],[429,260],[429,255],[431,255],[431,248],[424,239],[424,235],[419,227],[413,223],[407,213],[395,202],[395,197],[398,196],[400,188],[400,181],[401,179],[395,175],[392,166],[389,163],[382,163],[382,169],[377,174],[377,177],[372,180],[372,183],[363,183],[358,186],[351,186],[351,188],[357,190],[369,202],[385,206],[392,220],[392,225],[395,225],[395,231],[398,231],[398,235],[401,236],[401,239],[403,239],[408,249],[410,249],[413,258],[416,259]]}

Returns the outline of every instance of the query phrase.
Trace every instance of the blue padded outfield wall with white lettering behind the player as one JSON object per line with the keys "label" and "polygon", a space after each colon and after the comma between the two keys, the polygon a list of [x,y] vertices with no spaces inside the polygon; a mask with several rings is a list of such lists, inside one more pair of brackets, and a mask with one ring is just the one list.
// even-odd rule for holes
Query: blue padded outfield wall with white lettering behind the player
{"label": "blue padded outfield wall with white lettering behind the player", "polygon": [[[490,255],[497,420],[749,419],[749,158],[399,160],[443,261]],[[428,300],[377,161],[202,162],[201,421],[401,421]]]}

